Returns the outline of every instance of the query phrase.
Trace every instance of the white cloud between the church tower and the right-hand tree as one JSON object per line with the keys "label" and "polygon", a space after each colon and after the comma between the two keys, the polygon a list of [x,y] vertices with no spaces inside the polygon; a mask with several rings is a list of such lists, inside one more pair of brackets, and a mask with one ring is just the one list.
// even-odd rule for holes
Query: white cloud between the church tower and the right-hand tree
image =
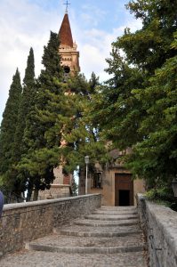
{"label": "white cloud between the church tower and the right-hand tree", "polygon": [[101,81],[109,78],[109,75],[104,72],[108,68],[105,61],[109,58],[111,52],[111,44],[117,40],[117,36],[124,34],[125,27],[131,28],[132,32],[141,28],[140,20],[128,20],[126,26],[113,28],[112,32],[105,32],[97,28],[80,33],[77,29],[78,35],[78,48],[81,52],[80,64],[82,71],[86,77],[90,77],[94,71],[97,76],[101,77]]}

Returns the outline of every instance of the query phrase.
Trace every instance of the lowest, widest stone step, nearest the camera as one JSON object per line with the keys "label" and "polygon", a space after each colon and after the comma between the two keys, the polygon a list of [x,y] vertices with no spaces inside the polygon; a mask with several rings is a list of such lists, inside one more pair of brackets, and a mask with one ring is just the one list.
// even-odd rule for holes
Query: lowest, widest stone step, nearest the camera
{"label": "lowest, widest stone step, nearest the camera", "polygon": [[63,237],[59,234],[36,239],[26,248],[36,251],[59,252],[68,254],[115,254],[138,252],[145,249],[141,235],[133,235],[129,239],[120,238],[82,238]]}

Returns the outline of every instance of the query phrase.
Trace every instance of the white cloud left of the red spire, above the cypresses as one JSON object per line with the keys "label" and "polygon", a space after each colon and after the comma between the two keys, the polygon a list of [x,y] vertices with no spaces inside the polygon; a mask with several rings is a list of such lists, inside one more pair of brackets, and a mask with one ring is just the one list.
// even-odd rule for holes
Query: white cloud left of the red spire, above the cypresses
{"label": "white cloud left of the red spire, above the cypresses", "polygon": [[59,20],[57,12],[44,12],[38,5],[24,0],[0,2],[0,120],[12,75],[18,67],[23,79],[31,46],[35,53],[36,75],[39,74],[44,44],[49,39],[50,29],[57,28]]}

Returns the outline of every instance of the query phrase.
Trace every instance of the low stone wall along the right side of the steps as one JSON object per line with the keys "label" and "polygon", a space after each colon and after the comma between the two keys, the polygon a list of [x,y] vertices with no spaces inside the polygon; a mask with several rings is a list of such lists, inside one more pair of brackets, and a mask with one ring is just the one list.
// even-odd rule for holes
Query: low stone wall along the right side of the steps
{"label": "low stone wall along the right side of the steps", "polygon": [[149,244],[150,267],[177,266],[177,213],[137,197],[141,226]]}

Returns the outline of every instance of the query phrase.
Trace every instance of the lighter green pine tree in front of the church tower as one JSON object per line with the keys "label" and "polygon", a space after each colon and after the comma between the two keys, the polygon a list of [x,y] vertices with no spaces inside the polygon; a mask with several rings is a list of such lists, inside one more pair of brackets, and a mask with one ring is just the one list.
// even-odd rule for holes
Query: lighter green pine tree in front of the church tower
{"label": "lighter green pine tree in front of the church tower", "polygon": [[65,117],[67,127],[64,127],[63,139],[67,145],[61,149],[65,158],[64,172],[73,173],[79,166],[79,179],[82,179],[85,169],[84,156],[89,155],[90,171],[94,171],[96,162],[105,164],[108,160],[105,142],[101,139],[98,125],[93,124],[90,109],[99,78],[92,75],[89,82],[84,75],[76,74],[68,80],[68,108],[70,117]]}

